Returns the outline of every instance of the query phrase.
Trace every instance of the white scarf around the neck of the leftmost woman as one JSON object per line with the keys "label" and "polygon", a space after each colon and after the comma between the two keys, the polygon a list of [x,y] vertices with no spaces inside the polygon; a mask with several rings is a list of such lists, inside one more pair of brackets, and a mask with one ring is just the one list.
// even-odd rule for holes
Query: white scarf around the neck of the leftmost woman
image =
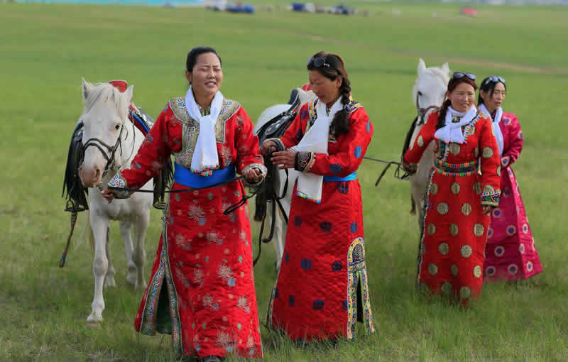
{"label": "white scarf around the neck of the leftmost woman", "polygon": [[217,142],[215,141],[215,124],[221,113],[223,94],[217,91],[211,102],[211,112],[208,116],[202,116],[200,107],[195,103],[192,87],[185,94],[185,108],[192,119],[200,124],[200,133],[197,136],[193,158],[191,159],[191,172],[197,175],[210,176],[213,170],[219,168],[219,155],[217,154]]}

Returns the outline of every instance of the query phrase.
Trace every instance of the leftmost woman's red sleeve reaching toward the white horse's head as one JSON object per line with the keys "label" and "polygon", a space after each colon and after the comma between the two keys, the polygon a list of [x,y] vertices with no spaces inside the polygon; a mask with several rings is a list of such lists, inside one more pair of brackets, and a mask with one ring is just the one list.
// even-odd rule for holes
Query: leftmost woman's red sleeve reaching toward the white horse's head
{"label": "leftmost woman's red sleeve reaching toward the white horse's head", "polygon": [[170,146],[168,144],[168,112],[170,116],[172,111],[169,104],[160,113],[155,124],[146,135],[142,145],[138,149],[138,153],[134,156],[131,166],[128,170],[121,172],[121,176],[126,180],[126,185],[131,188],[141,188],[151,178],[158,175],[160,170],[170,157]]}

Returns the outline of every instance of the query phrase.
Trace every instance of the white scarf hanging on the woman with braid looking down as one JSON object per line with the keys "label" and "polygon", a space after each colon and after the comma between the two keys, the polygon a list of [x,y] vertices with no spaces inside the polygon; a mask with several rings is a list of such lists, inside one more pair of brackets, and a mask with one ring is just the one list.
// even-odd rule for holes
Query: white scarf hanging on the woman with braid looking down
{"label": "white scarf hanging on the woman with braid looking down", "polygon": [[[333,104],[329,114],[325,111],[326,106],[320,100],[316,104],[317,119],[307,130],[293,150],[311,151],[315,153],[325,153],[327,155],[327,143],[329,142],[329,125],[333,121],[335,114],[343,109],[342,97],[339,97]],[[320,203],[322,201],[322,186],[324,177],[309,172],[302,172],[297,179],[296,192],[302,197]]]}

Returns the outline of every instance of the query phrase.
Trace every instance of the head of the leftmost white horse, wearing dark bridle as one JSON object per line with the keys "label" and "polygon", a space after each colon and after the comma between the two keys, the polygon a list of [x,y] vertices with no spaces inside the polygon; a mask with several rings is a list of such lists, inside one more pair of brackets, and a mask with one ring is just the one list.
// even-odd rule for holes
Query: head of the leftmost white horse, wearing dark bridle
{"label": "head of the leftmost white horse, wearing dark bridle", "polygon": [[112,84],[90,84],[82,79],[84,109],[80,122],[84,128],[84,158],[79,167],[79,177],[84,187],[98,186],[104,172],[116,169],[115,165],[122,162],[123,140],[129,132],[126,119],[132,90],[133,86],[130,86],[120,92]]}

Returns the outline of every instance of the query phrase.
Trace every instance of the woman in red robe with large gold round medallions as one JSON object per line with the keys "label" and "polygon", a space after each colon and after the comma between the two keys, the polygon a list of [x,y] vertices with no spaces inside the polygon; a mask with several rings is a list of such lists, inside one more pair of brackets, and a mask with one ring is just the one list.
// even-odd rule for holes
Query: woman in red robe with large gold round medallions
{"label": "woman in red robe with large gold round medallions", "polygon": [[499,204],[499,152],[491,120],[474,104],[475,75],[455,72],[447,100],[432,112],[404,155],[410,172],[430,141],[434,167],[425,202],[417,285],[468,305],[483,285],[489,213]]}

